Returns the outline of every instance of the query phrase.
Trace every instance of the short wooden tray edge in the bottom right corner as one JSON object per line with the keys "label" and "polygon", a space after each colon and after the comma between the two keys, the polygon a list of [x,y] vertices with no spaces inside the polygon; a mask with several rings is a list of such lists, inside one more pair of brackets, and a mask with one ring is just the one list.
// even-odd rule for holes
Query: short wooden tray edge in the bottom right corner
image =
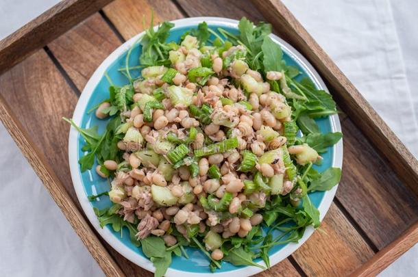
{"label": "short wooden tray edge in the bottom right corner", "polygon": [[418,222],[413,224],[413,226],[410,226],[405,233],[389,244],[389,246],[386,246],[378,252],[378,254],[373,256],[367,263],[356,269],[351,276],[376,276],[417,243]]}

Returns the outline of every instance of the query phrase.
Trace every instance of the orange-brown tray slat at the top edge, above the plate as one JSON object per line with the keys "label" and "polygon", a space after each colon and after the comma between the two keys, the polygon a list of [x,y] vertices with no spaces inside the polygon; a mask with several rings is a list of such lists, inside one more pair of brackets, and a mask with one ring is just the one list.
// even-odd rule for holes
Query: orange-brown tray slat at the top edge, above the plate
{"label": "orange-brown tray slat at the top edge, above the plate", "polygon": [[167,0],[115,0],[103,8],[116,29],[125,40],[149,27],[153,11],[154,25],[161,21],[172,21],[182,18],[172,1]]}

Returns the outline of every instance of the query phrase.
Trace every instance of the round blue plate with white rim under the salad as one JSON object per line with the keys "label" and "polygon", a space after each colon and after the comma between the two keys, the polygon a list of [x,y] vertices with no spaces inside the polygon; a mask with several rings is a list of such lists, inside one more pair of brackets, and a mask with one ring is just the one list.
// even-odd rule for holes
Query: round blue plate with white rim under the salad
{"label": "round blue plate with white rim under the salad", "polygon": [[[180,21],[174,21],[175,27],[171,30],[170,36],[167,41],[178,42],[180,40],[180,36],[182,36],[182,34],[184,34],[185,31],[188,31],[190,28],[196,27],[197,23],[201,21],[206,21],[208,23],[208,26],[213,30],[217,30],[218,27],[222,27],[223,29],[230,31],[232,34],[236,34],[238,31],[238,29],[236,28],[237,21],[232,21],[230,19],[186,18]],[[108,57],[108,59],[106,59],[105,62],[101,64],[101,66],[99,66],[97,72],[95,72],[95,75],[93,75],[93,77],[90,79],[82,93],[82,97],[80,98],[79,103],[77,103],[77,107],[73,117],[73,120],[75,120],[75,122],[79,124],[79,126],[83,128],[88,128],[97,125],[99,126],[99,133],[103,132],[103,130],[106,129],[106,124],[108,123],[108,120],[100,120],[95,117],[94,112],[88,114],[87,111],[95,105],[97,105],[97,103],[100,103],[101,101],[109,97],[108,88],[110,86],[110,83],[108,79],[106,79],[106,77],[103,75],[103,72],[105,72],[105,70],[106,72],[108,72],[110,79],[115,85],[125,85],[128,83],[126,77],[124,77],[121,74],[121,72],[118,71],[118,68],[125,67],[127,49],[129,49],[130,45],[132,45],[135,41],[138,40],[139,36],[140,35],[136,36],[136,38],[133,38],[128,42],[125,42],[123,46],[121,46],[119,49],[116,49],[116,51],[112,53],[112,55],[110,55],[110,57]],[[302,79],[302,77],[309,77],[310,79],[312,79],[312,81],[315,83],[318,89],[326,90],[325,85],[323,85],[323,82],[321,81],[315,70],[308,64],[308,62],[306,62],[306,60],[304,60],[304,58],[299,53],[297,53],[297,51],[295,51],[295,49],[290,47],[288,44],[286,44],[286,42],[280,40],[280,38],[276,36],[272,36],[272,38],[281,45],[284,52],[284,60],[286,61],[286,64],[296,66],[297,68],[299,68],[301,74],[297,77],[298,79]],[[212,38],[210,39],[214,39],[214,37],[212,36]],[[130,66],[138,65],[138,58],[140,56],[140,53],[141,47],[138,46],[138,44],[136,44],[136,47],[130,54]],[[139,70],[131,71],[131,75],[133,77],[139,76],[139,73]],[[319,126],[319,129],[321,130],[321,133],[328,133],[330,131],[341,131],[341,128],[339,128],[338,116],[321,118],[316,121]],[[97,228],[97,220],[95,220],[95,215],[92,215],[93,207],[103,209],[105,207],[109,207],[110,205],[112,205],[112,203],[110,202],[108,196],[102,196],[101,198],[93,202],[86,202],[86,198],[89,195],[99,194],[101,192],[108,191],[110,185],[108,181],[102,179],[95,172],[94,169],[97,166],[97,163],[95,163],[95,166],[93,166],[93,170],[87,170],[86,172],[80,171],[79,165],[77,164],[77,160],[85,155],[85,153],[83,153],[82,151],[83,145],[84,140],[82,136],[75,133],[75,131],[72,129],[70,134],[69,155],[73,183],[75,185],[77,196],[80,202],[82,203],[84,211],[88,215],[90,221],[92,221],[93,225]],[[320,172],[327,168],[330,168],[331,166],[341,167],[342,142],[339,142],[339,144],[336,144],[336,146],[329,147],[328,151],[326,153],[323,153],[322,157],[323,162],[321,166],[315,166],[315,169],[319,170]],[[309,194],[312,203],[320,209],[321,218],[323,218],[323,215],[325,215],[326,211],[328,210],[330,202],[334,197],[335,190],[336,187],[330,192],[314,192]],[[325,201],[326,203],[324,203],[325,195],[327,196],[327,201]],[[112,243],[110,243],[114,248],[116,248],[116,250],[118,250],[122,254],[125,254],[125,256],[127,256],[128,259],[130,259],[131,261],[133,259],[134,263],[137,263],[140,266],[152,270],[152,268],[149,267],[149,264],[144,266],[143,259],[137,259],[139,256],[145,256],[140,248],[137,248],[131,243],[129,233],[127,230],[123,230],[121,237],[121,233],[114,232],[110,226],[106,226],[105,228],[107,229],[106,232],[101,232],[101,230],[99,230],[100,227],[98,227],[98,231],[99,233],[101,233],[101,235],[103,235],[103,237],[107,241],[109,233],[112,236],[114,236],[114,238],[116,238],[116,240],[113,238]],[[306,236],[310,235],[310,233],[312,233],[312,230],[307,230]],[[280,235],[280,231],[275,230],[273,235]],[[306,239],[307,237],[304,237],[301,241],[304,241]],[[120,244],[118,243],[118,241]],[[119,245],[115,246],[115,243]],[[302,244],[302,242],[287,243],[273,247],[269,251],[269,255],[271,257],[275,257],[275,259],[271,259],[271,265],[286,258],[286,255],[291,254],[291,252],[293,252],[300,244]],[[129,251],[129,255],[126,254],[127,248],[131,250]],[[286,248],[288,248],[287,251],[281,251],[285,250]],[[187,260],[184,257],[178,257],[173,255],[173,262],[171,263],[170,269],[167,272],[168,275],[178,272],[187,272],[194,276],[197,273],[210,274],[210,270],[208,267],[209,261],[202,252],[200,252],[196,248],[187,248],[186,251],[188,253],[188,256],[190,256],[190,259]],[[280,252],[282,252],[283,254],[280,254]],[[136,257],[135,254],[138,257]],[[147,258],[145,257],[145,259]],[[228,273],[231,271],[234,271],[234,273],[238,273],[241,272],[241,270],[236,270],[242,268],[243,267],[237,267],[235,265],[232,265],[231,263],[223,262],[222,268],[218,269],[217,273]],[[246,270],[245,272],[241,273],[242,275],[240,275],[243,276],[247,274],[254,274],[260,271],[260,269],[257,269],[256,267],[250,268],[251,270]]]}

